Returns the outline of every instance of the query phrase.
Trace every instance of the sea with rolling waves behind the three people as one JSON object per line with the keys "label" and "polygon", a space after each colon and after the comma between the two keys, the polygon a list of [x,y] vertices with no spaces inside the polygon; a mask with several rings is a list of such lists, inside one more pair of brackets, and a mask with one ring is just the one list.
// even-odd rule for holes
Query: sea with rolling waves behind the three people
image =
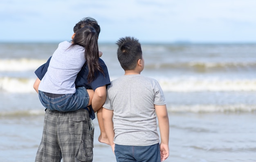
{"label": "sea with rolling waves behind the three people", "polygon": [[[33,162],[44,107],[34,71],[58,43],[0,43],[0,161]],[[141,75],[161,85],[168,109],[165,162],[256,162],[256,43],[141,43]],[[115,43],[99,43],[110,80],[124,75]],[[125,87],[124,87],[125,88]],[[98,142],[94,162],[115,162]]]}

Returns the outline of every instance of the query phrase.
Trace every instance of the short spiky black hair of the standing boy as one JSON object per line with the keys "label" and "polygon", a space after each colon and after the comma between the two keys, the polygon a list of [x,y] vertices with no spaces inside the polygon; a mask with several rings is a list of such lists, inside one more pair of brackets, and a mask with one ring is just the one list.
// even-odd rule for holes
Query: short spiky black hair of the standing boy
{"label": "short spiky black hair of the standing boy", "polygon": [[134,37],[120,38],[117,43],[117,58],[124,70],[133,70],[142,59],[141,44]]}

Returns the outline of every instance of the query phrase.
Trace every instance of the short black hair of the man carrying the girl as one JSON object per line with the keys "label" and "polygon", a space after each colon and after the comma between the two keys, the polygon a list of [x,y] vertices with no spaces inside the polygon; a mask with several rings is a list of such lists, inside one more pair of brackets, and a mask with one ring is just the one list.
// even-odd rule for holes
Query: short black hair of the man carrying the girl
{"label": "short black hair of the man carrying the girl", "polygon": [[101,28],[100,28],[98,22],[94,18],[91,18],[91,17],[86,17],[86,18],[83,18],[82,20],[80,20],[73,28],[74,33],[76,33],[79,29],[81,29],[85,26],[93,27],[99,36],[99,33],[101,32]]}

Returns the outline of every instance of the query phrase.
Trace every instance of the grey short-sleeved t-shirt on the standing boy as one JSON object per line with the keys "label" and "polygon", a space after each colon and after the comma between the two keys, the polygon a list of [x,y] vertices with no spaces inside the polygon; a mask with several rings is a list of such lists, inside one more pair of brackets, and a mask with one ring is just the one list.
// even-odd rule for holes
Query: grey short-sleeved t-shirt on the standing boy
{"label": "grey short-sleeved t-shirt on the standing boy", "polygon": [[165,104],[164,93],[153,78],[123,75],[113,80],[103,107],[114,113],[114,143],[131,146],[159,143],[155,105]]}

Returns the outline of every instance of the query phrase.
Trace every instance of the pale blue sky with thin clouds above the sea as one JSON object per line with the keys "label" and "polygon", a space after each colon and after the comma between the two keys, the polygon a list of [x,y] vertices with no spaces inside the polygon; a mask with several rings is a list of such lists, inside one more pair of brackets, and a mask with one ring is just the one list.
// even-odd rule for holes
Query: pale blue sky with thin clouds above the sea
{"label": "pale blue sky with thin clouds above the sea", "polygon": [[99,42],[256,42],[256,0],[1,0],[0,42],[71,40],[84,17]]}

